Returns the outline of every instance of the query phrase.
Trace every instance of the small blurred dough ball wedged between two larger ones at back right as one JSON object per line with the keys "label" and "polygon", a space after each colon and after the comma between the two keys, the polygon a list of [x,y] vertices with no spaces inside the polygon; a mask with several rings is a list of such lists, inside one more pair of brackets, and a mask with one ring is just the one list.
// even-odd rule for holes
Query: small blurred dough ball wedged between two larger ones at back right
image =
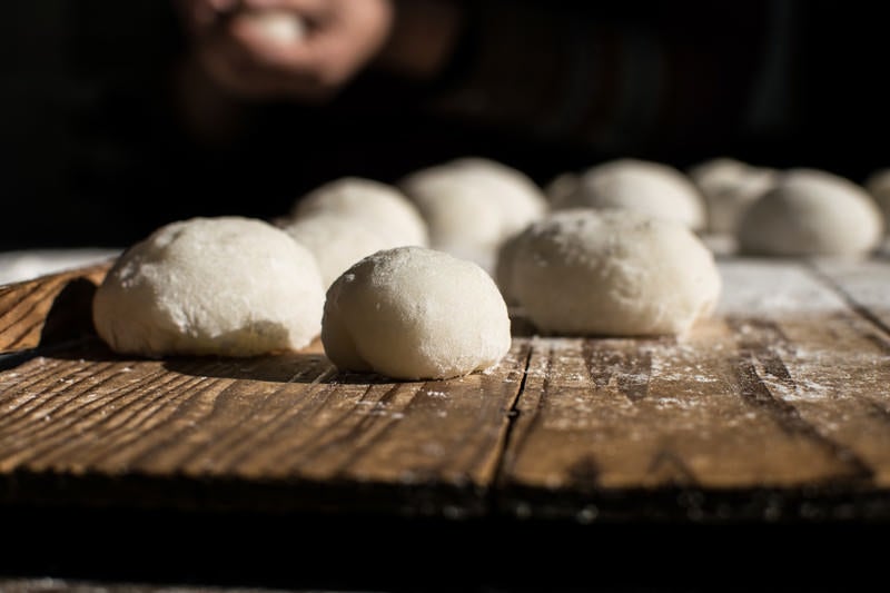
{"label": "small blurred dough ball wedged between two larger ones at back right", "polygon": [[720,157],[689,171],[708,205],[708,230],[734,234],[745,208],[775,184],[779,172]]}

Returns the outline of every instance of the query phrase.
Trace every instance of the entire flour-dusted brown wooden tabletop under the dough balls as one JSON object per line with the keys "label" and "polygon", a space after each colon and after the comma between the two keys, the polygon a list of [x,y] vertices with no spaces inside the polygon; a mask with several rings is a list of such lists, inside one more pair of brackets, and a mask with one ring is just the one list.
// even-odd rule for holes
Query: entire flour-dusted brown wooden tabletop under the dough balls
{"label": "entire flour-dusted brown wooden tabletop under the dough balls", "polygon": [[[0,502],[890,517],[890,266],[726,257],[720,269],[719,310],[685,339],[542,337],[517,317],[492,372],[406,383],[337,373],[318,344],[235,360],[115,355],[82,319],[102,267],[2,287],[2,348],[31,349],[0,372]],[[58,325],[80,316],[80,329],[57,340],[46,326],[71,284]]]}

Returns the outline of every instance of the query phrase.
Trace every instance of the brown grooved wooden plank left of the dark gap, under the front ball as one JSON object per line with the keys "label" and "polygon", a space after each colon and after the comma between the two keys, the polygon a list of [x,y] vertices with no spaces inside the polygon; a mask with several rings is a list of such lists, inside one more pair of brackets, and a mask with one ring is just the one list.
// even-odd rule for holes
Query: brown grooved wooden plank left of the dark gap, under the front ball
{"label": "brown grooved wooden plank left of the dark gap, under the front ball", "polygon": [[526,352],[517,342],[484,374],[387,383],[337,374],[317,343],[253,359],[142,360],[93,340],[0,373],[0,492],[481,513]]}

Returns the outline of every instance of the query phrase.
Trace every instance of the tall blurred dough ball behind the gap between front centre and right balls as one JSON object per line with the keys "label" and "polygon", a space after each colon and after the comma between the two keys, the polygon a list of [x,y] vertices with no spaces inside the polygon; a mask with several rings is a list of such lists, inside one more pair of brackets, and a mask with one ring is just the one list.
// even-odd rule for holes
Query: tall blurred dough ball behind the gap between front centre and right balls
{"label": "tall blurred dough ball behind the gap between front centre and right balls", "polygon": [[429,226],[432,247],[494,268],[507,237],[547,210],[544,192],[525,174],[467,157],[415,171],[399,187]]}

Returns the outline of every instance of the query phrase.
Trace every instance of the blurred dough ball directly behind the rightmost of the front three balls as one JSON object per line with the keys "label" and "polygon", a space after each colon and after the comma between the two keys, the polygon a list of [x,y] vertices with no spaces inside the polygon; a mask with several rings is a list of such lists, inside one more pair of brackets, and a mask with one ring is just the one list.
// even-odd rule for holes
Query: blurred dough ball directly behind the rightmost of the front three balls
{"label": "blurred dough ball directly behind the rightmost of the front three balls", "polygon": [[693,230],[706,224],[704,199],[689,176],[670,165],[631,158],[587,169],[575,191],[566,192],[553,206],[637,210]]}

